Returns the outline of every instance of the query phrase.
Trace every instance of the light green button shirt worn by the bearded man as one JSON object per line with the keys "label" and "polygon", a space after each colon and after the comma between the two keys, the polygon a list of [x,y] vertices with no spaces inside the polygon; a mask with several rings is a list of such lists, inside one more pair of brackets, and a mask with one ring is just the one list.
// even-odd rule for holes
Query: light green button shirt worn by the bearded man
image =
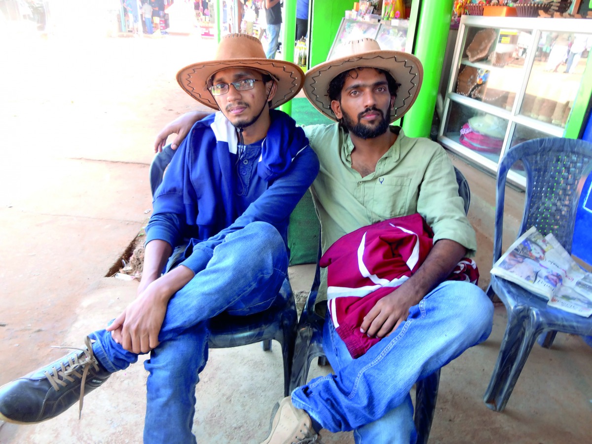
{"label": "light green button shirt worn by the bearded man", "polygon": [[[337,123],[304,126],[317,153],[320,170],[311,186],[321,223],[323,253],[344,234],[391,217],[419,213],[432,227],[434,242],[450,239],[477,250],[475,231],[466,218],[464,202],[451,160],[437,143],[406,137],[397,140],[378,160],[376,170],[362,177],[352,168],[353,143]],[[326,282],[323,274],[321,282]],[[324,299],[321,284],[318,298]]]}

